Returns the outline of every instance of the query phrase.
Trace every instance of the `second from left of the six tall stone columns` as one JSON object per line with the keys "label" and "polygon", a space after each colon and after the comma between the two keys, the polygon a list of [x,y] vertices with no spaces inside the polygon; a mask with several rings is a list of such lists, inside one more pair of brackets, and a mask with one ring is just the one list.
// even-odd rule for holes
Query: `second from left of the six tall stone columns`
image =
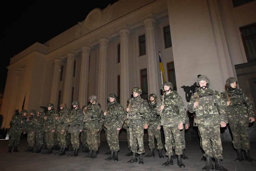
{"label": "second from left of the six tall stone columns", "polygon": [[65,73],[64,82],[64,92],[63,92],[63,103],[66,103],[67,107],[71,106],[71,93],[72,93],[72,76],[74,70],[74,53],[67,53],[67,65]]}

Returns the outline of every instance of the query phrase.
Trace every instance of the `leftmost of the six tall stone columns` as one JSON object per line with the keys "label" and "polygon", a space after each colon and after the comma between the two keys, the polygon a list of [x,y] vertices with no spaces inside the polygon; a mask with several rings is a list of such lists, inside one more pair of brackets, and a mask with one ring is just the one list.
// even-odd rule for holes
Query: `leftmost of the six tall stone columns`
{"label": "leftmost of the six tall stone columns", "polygon": [[[59,97],[59,77],[61,70],[61,59],[56,58],[54,60],[54,68],[53,68],[53,81],[52,81],[52,88],[51,88],[51,97],[50,97],[50,103],[53,103],[54,105],[57,105],[57,100]],[[57,108],[56,106],[55,108]]]}

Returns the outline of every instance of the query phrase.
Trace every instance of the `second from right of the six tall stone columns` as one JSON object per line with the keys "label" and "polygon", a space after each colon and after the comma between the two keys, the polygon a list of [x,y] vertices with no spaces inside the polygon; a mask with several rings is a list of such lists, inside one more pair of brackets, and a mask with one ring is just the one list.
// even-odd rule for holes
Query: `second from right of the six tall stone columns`
{"label": "second from right of the six tall stone columns", "polygon": [[127,99],[130,96],[129,87],[129,34],[128,29],[121,29],[120,34],[120,104],[126,106]]}

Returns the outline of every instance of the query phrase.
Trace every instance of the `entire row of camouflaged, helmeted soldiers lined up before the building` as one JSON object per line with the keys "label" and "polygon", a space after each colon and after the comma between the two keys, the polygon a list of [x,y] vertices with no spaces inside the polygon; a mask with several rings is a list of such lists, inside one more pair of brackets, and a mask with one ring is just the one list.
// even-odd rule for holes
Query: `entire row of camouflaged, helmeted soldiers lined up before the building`
{"label": "entire row of camouflaged, helmeted soldiers lined up before the building", "polygon": [[[226,127],[229,123],[233,135],[233,146],[238,157],[235,161],[255,160],[249,155],[248,123],[254,122],[255,114],[252,101],[244,90],[237,88],[237,80],[230,77],[226,80],[227,90],[218,92],[211,89],[207,76],[199,76],[197,90],[192,94],[187,110],[195,113],[194,124],[198,126],[200,147],[203,151],[203,159],[206,165],[202,171],[210,169],[226,171],[221,165],[222,142],[220,139],[220,127]],[[167,160],[162,166],[173,165],[173,159],[177,158],[177,165],[185,168],[182,159],[188,159],[185,155],[185,129],[189,128],[187,110],[181,96],[173,90],[171,82],[162,84],[163,95],[157,98],[150,94],[148,100],[141,98],[141,89],[135,87],[131,90],[132,98],[127,101],[126,108],[117,102],[115,94],[108,95],[108,104],[102,111],[95,95],[90,96],[89,105],[80,109],[77,101],[72,102],[72,110],[66,104],[59,105],[60,111],[54,110],[54,105],[48,104],[48,111],[43,108],[30,110],[12,119],[8,152],[14,146],[14,152],[18,152],[20,135],[28,133],[28,149],[26,152],[41,153],[43,144],[46,150],[42,153],[51,154],[54,148],[59,151],[55,155],[66,155],[69,145],[72,152],[68,156],[77,156],[78,152],[87,153],[84,158],[97,158],[100,147],[100,133],[102,127],[108,144],[109,155],[105,160],[118,161],[119,132],[126,129],[129,152],[126,156],[132,156],[128,163],[139,162],[144,164],[145,153],[143,136],[144,129],[148,129],[149,154],[145,157],[155,156],[156,147],[159,158],[164,158],[162,150],[165,147]],[[164,147],[161,140],[161,126],[164,132]],[[79,139],[80,137],[80,139]],[[79,144],[82,150],[79,151]],[[36,145],[36,150],[33,149]],[[244,153],[244,155],[243,155]],[[215,161],[215,166],[212,164]]]}

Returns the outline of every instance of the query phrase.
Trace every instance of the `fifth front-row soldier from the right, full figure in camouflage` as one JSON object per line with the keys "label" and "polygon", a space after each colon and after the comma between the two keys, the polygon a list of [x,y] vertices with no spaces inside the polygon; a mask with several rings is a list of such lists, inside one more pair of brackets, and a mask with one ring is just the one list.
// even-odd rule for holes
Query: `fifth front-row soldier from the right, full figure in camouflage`
{"label": "fifth front-row soldier from the right, full figure in camouflage", "polygon": [[125,110],[122,105],[117,103],[117,96],[115,94],[110,94],[108,96],[108,101],[107,108],[104,112],[104,126],[107,128],[107,143],[111,153],[105,160],[118,161],[118,137],[125,118]]}

